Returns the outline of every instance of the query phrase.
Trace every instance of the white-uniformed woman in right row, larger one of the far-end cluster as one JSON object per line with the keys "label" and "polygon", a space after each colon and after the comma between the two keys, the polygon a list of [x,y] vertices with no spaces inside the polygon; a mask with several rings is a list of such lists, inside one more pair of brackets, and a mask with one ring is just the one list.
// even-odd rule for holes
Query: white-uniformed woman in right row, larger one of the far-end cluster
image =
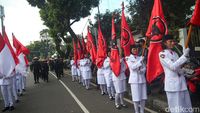
{"label": "white-uniformed woman in right row, larger one of the far-end cluster", "polygon": [[80,66],[83,82],[85,83],[86,89],[90,88],[90,80],[92,79],[91,65],[92,62],[88,58],[88,55],[85,54],[85,58],[80,61]]}

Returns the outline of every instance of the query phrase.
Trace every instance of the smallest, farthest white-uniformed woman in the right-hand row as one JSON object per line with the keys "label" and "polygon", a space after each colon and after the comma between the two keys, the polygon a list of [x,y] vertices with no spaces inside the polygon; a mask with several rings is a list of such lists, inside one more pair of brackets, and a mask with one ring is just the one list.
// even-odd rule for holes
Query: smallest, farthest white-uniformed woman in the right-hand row
{"label": "smallest, farthest white-uniformed woman in the right-hand row", "polygon": [[71,64],[72,81],[75,81],[77,80],[77,64],[74,61],[74,57],[72,57],[70,64]]}

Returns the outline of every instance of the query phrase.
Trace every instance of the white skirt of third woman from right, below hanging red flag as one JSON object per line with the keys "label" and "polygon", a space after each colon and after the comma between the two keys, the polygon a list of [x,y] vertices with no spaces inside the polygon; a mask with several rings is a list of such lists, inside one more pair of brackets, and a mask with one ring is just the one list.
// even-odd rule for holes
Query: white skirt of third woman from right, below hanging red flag
{"label": "white skirt of third woman from right, below hanging red flag", "polygon": [[113,81],[116,93],[123,93],[126,91],[126,79]]}

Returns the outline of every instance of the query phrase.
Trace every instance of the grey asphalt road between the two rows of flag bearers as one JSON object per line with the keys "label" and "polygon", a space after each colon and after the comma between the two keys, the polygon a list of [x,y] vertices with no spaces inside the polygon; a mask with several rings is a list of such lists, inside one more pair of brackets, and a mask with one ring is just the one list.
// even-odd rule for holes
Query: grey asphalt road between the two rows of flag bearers
{"label": "grey asphalt road between the two rows of flag bearers", "polygon": [[[116,109],[114,101],[92,86],[90,90],[71,81],[70,75],[58,80],[50,72],[49,83],[40,80],[34,84],[32,73],[27,77],[27,88],[14,111],[9,113],[134,113],[133,105],[126,102],[128,108]],[[0,101],[0,108],[3,107]],[[1,111],[0,111],[1,112]],[[150,113],[150,112],[145,112]]]}

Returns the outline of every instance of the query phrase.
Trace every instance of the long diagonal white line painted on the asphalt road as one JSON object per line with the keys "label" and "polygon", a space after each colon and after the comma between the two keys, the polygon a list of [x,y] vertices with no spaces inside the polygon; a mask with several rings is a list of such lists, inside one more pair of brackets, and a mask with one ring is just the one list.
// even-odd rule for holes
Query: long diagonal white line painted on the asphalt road
{"label": "long diagonal white line painted on the asphalt road", "polygon": [[[56,75],[53,74],[52,72],[50,72],[55,78]],[[81,101],[76,97],[76,95],[65,85],[65,83],[63,83],[62,80],[59,80],[59,82],[65,87],[65,89],[70,93],[70,95],[74,98],[74,100],[76,101],[76,103],[81,107],[81,109],[83,110],[84,113],[90,113],[87,108],[81,103]]]}

